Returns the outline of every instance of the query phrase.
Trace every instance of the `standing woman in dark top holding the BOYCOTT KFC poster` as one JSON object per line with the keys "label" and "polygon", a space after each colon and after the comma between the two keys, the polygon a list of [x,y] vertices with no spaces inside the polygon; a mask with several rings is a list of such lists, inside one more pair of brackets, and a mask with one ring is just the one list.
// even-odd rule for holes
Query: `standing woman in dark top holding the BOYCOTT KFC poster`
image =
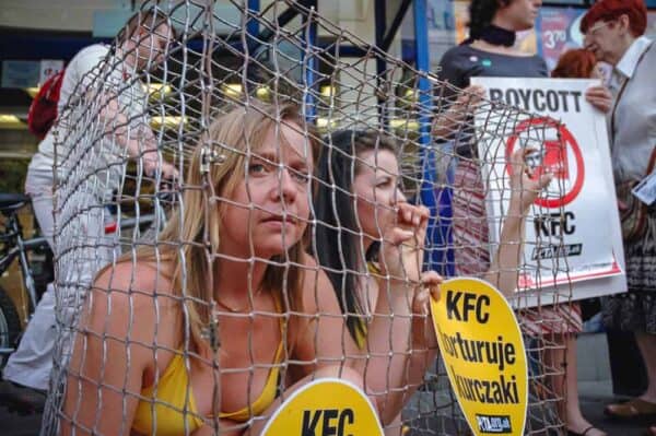
{"label": "standing woman in dark top holding the BOYCOTT KFC poster", "polygon": [[[547,78],[544,60],[537,55],[527,55],[515,46],[516,33],[534,27],[541,4],[541,0],[472,0],[469,7],[469,37],[444,55],[440,63],[440,79],[465,87],[472,76]],[[443,96],[455,101],[449,108],[449,122],[441,133],[454,142],[457,158],[453,196],[456,272],[482,274],[489,269],[490,257],[485,248],[489,241],[484,214],[485,187],[476,143],[468,130],[471,129],[469,111],[473,105],[468,104],[466,94],[458,95],[447,87]],[[604,86],[589,87],[585,96],[599,110],[607,113],[610,109],[612,97]],[[548,308],[540,310],[543,314]],[[584,433],[584,422],[566,425],[574,434]],[[594,435],[595,431],[588,429],[587,435]]]}

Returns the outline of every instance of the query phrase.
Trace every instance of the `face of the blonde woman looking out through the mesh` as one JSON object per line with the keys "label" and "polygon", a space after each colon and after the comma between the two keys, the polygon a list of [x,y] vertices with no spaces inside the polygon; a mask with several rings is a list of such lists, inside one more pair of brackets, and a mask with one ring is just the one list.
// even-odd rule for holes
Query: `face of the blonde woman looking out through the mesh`
{"label": "face of the blonde woman looking out through the mesh", "polygon": [[220,251],[241,258],[282,255],[303,237],[309,216],[309,142],[281,123],[246,158],[246,175],[221,202]]}

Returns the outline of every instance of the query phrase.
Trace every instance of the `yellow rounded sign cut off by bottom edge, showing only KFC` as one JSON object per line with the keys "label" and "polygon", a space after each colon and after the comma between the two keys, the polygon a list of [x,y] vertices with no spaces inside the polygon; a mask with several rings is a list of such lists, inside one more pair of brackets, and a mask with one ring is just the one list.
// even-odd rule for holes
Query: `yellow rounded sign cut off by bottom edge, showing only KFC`
{"label": "yellow rounded sign cut off by bottom edge, showing only KFC", "polygon": [[338,378],[314,380],[290,394],[262,436],[383,436],[376,411],[356,386]]}

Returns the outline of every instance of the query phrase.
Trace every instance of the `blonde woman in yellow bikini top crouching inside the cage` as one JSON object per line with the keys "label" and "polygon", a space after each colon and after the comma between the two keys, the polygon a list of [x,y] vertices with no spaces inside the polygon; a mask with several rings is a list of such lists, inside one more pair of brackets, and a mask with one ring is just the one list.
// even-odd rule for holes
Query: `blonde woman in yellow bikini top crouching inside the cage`
{"label": "blonde woman in yellow bikini top crouching inside the cage", "polygon": [[340,365],[340,309],[305,252],[318,150],[303,126],[294,106],[211,123],[156,248],[90,291],[61,434],[257,435],[280,391],[321,376],[362,385]]}

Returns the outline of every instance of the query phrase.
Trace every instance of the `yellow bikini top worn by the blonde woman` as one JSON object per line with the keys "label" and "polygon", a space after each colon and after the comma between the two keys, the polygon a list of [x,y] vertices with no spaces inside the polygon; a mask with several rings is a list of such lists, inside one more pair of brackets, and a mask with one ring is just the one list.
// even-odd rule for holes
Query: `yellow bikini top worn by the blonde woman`
{"label": "yellow bikini top worn by the blonde woman", "polygon": [[[277,301],[276,307],[280,311]],[[284,334],[282,319],[280,320],[280,331],[281,334]],[[276,400],[278,390],[280,366],[277,364],[280,363],[282,351],[281,341],[273,357],[273,366],[259,398],[250,406],[245,406],[235,412],[221,412],[219,417],[246,422],[251,416],[260,415],[271,405]],[[156,388],[156,394],[155,385],[141,391],[141,397],[144,399],[140,400],[137,405],[132,422],[133,431],[142,435],[178,436],[190,434],[204,424],[202,415],[198,413],[183,354],[176,354],[171,360]]]}

